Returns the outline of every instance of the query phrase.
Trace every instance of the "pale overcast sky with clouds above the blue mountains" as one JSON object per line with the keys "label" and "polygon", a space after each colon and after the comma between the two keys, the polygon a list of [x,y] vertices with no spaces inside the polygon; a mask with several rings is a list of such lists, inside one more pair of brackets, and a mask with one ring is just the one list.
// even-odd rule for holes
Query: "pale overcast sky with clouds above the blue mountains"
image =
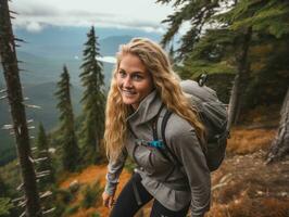
{"label": "pale overcast sky with clouds above the blue mountains", "polygon": [[138,28],[163,33],[161,21],[173,13],[155,0],[14,0],[14,26],[40,31],[48,25]]}

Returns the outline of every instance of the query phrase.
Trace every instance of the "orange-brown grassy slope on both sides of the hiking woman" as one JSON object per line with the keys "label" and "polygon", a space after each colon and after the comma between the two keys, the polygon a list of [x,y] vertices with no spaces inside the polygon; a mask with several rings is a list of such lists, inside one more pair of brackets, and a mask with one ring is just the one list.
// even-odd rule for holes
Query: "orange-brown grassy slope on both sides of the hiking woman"
{"label": "orange-brown grassy slope on both sides of the hiking woman", "polygon": [[[278,112],[271,112],[268,115],[263,111],[251,111],[251,115],[255,115],[253,123],[231,130],[226,159],[218,170],[212,173],[212,206],[206,217],[289,216],[289,157],[273,165],[265,164],[266,152],[277,132],[278,118],[275,117]],[[92,186],[96,181],[103,188],[105,170],[105,165],[101,165],[90,166],[79,174],[66,174],[64,177],[67,178],[61,181],[60,187],[70,191],[70,184],[77,180],[81,189]],[[129,176],[125,169],[116,195]],[[79,190],[67,206],[71,208],[70,216],[109,215],[110,210],[102,206],[100,195],[88,208],[79,205],[81,200],[84,195]],[[151,203],[137,216],[149,217],[150,208]]]}

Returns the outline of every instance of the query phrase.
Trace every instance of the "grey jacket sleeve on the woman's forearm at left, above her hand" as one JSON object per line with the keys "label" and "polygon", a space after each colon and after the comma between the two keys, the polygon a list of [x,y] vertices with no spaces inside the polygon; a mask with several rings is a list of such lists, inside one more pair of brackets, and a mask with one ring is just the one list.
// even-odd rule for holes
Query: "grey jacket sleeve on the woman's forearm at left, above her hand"
{"label": "grey jacket sleeve on the woman's forearm at left, above her hand", "polygon": [[104,191],[109,195],[113,195],[115,193],[120,176],[125,165],[126,157],[127,152],[126,150],[124,150],[116,161],[109,162],[106,173],[106,184],[104,188]]}

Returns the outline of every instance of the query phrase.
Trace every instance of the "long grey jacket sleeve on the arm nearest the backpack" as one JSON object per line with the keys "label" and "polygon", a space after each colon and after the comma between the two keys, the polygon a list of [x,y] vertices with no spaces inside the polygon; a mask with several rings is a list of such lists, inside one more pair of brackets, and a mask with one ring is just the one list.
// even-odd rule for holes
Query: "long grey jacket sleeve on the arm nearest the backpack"
{"label": "long grey jacket sleeve on the arm nearest the backpack", "polygon": [[171,131],[168,145],[184,165],[191,190],[191,216],[202,217],[210,209],[211,201],[211,176],[205,156],[188,123]]}

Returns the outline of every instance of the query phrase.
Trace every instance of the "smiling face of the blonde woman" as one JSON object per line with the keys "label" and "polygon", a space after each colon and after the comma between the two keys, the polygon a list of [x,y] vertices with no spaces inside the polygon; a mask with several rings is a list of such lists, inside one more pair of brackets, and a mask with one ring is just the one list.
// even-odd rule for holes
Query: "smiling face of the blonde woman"
{"label": "smiling face of the blonde woman", "polygon": [[140,59],[134,54],[125,54],[116,72],[116,82],[123,102],[135,110],[143,98],[153,90],[150,73]]}

